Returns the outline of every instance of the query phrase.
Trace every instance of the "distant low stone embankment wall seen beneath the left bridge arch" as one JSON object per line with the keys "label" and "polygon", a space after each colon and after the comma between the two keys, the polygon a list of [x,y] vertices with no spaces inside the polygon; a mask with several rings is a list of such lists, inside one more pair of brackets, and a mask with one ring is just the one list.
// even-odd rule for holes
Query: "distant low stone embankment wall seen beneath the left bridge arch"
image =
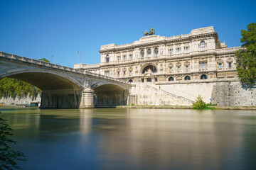
{"label": "distant low stone embankment wall seen beneath the left bridge arch", "polygon": [[23,98],[18,98],[18,97],[14,97],[12,98],[11,96],[8,96],[6,98],[2,97],[0,98],[0,103],[5,103],[7,105],[10,105],[11,103],[14,103],[15,105],[22,105],[25,104],[26,102],[31,103],[31,102],[41,102],[41,96],[40,94],[38,94],[38,96],[36,98],[31,98],[29,96],[23,97]]}

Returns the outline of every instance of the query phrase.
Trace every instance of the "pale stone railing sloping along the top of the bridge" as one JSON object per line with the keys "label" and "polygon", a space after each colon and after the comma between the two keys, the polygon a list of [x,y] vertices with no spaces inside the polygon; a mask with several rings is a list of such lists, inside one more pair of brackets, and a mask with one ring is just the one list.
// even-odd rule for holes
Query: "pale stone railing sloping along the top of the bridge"
{"label": "pale stone railing sloping along the top of the bridge", "polygon": [[107,77],[107,76],[102,75],[102,74],[96,74],[96,73],[88,72],[88,71],[85,71],[85,70],[82,70],[82,69],[73,69],[71,67],[65,67],[65,66],[58,65],[58,64],[53,64],[53,63],[50,63],[50,62],[43,62],[43,61],[39,61],[39,60],[34,60],[34,59],[31,59],[31,58],[21,57],[21,56],[18,56],[18,55],[11,55],[11,54],[6,53],[6,52],[0,52],[0,57],[5,57],[5,58],[10,59],[10,60],[16,60],[16,61],[21,61],[21,62],[28,62],[28,63],[31,63],[31,64],[37,64],[37,65],[44,66],[44,67],[60,69],[60,70],[68,71],[68,72],[75,72],[75,73],[85,74],[85,75],[93,76],[93,77],[101,77],[103,79],[119,81],[119,82],[125,83],[125,84],[131,84],[130,82],[123,81],[123,80],[120,80],[120,79],[116,79],[116,78],[113,78],[113,77]]}

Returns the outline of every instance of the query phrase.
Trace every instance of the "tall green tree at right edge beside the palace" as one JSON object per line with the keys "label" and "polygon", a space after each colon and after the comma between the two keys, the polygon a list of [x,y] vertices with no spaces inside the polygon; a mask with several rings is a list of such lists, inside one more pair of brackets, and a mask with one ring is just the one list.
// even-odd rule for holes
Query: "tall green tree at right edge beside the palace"
{"label": "tall green tree at right edge beside the palace", "polygon": [[235,52],[238,77],[242,84],[253,86],[256,81],[256,23],[241,30],[241,35],[242,49]]}

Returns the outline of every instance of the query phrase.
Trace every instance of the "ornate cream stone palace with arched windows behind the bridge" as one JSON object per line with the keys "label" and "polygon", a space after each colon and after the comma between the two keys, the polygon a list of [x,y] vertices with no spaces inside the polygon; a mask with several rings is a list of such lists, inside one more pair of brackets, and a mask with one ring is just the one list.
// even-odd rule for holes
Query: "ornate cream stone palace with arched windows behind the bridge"
{"label": "ornate cream stone palace with arched windows behind the bridge", "polygon": [[186,35],[149,35],[127,45],[102,45],[100,64],[75,68],[134,82],[208,81],[236,78],[234,52],[213,27]]}

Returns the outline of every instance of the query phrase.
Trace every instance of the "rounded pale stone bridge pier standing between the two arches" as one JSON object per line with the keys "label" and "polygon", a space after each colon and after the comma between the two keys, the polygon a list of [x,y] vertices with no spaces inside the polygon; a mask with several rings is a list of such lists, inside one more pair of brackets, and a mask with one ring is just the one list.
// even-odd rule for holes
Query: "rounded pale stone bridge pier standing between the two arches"
{"label": "rounded pale stone bridge pier standing between the two arches", "polygon": [[83,90],[79,108],[94,108],[93,94],[94,91],[92,89]]}

